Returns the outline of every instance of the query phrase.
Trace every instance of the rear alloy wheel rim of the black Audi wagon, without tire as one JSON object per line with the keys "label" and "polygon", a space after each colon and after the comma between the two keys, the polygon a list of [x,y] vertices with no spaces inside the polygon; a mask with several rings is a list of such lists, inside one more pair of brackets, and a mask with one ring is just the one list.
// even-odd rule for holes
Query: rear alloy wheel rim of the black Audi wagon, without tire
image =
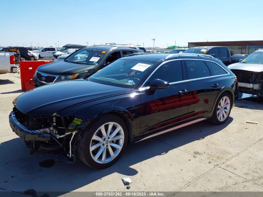
{"label": "rear alloy wheel rim of the black Audi wagon, without tire", "polygon": [[230,99],[224,96],[218,103],[217,106],[217,118],[219,121],[223,122],[229,115],[230,111]]}

